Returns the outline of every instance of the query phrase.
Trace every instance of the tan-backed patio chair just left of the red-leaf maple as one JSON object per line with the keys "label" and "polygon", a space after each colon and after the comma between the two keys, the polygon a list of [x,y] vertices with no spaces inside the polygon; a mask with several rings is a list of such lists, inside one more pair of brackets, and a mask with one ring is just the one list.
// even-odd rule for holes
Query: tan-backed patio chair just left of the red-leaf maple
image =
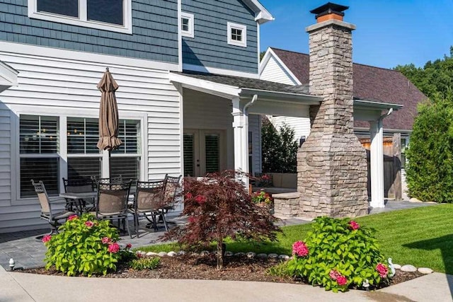
{"label": "tan-backed patio chair just left of the red-leaf maple", "polygon": [[129,209],[130,213],[134,215],[134,226],[137,238],[139,237],[139,216],[144,216],[152,223],[154,230],[157,231],[156,215],[161,215],[163,217],[165,230],[168,231],[165,213],[162,210],[164,204],[164,185],[165,180],[149,182],[137,181],[134,206],[132,209]]}

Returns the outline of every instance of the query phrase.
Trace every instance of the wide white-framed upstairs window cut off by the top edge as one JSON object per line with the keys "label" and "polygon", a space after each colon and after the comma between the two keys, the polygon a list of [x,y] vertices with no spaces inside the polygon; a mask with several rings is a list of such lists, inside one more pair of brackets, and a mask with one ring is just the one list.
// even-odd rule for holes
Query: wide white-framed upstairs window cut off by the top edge
{"label": "wide white-framed upstairs window cut off by the top edge", "polygon": [[28,16],[132,33],[132,0],[28,0]]}

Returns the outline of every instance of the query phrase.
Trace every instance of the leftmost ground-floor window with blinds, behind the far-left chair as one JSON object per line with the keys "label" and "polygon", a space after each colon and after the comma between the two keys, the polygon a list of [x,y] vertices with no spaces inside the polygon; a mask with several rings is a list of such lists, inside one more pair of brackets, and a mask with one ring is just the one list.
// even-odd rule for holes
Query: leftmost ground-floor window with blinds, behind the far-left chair
{"label": "leftmost ground-floor window with blinds, behind the far-left chair", "polygon": [[19,122],[21,197],[34,197],[30,180],[42,180],[47,193],[59,193],[58,117],[21,115]]}

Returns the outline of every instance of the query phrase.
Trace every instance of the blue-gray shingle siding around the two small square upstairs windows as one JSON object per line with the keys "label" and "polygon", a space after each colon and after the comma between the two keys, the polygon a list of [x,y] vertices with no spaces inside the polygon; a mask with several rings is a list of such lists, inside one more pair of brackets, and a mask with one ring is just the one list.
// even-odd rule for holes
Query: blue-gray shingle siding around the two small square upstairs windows
{"label": "blue-gray shingle siding around the two small square upstairs windows", "polygon": [[[195,37],[183,37],[183,63],[258,72],[255,14],[241,0],[183,0],[182,11],[195,19]],[[227,43],[227,22],[247,26],[247,47]]]}

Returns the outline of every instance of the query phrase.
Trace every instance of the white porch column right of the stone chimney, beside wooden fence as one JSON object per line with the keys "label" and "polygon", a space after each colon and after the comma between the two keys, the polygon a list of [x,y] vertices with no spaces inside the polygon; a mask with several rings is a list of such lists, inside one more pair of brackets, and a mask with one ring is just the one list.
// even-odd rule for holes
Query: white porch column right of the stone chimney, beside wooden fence
{"label": "white porch column right of the stone chimney, beside wooden fence", "polygon": [[383,208],[384,204],[384,131],[382,118],[369,122],[371,134],[371,207]]}

